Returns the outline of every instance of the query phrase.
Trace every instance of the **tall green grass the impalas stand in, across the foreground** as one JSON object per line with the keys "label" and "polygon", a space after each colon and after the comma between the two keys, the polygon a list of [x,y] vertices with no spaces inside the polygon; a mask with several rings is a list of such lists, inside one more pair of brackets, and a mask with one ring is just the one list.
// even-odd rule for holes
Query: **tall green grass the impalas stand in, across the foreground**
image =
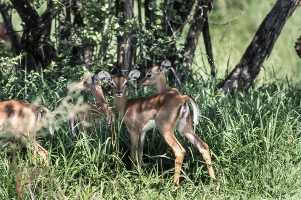
{"label": "tall green grass the impalas stand in, across the foreground", "polygon": [[[36,93],[22,90],[24,83],[20,83],[10,91],[1,87],[0,100],[32,101],[41,96],[41,102],[54,110],[67,95],[66,81],[45,74],[24,77],[24,82],[35,85]],[[103,88],[112,102],[110,85]],[[128,97],[153,93],[154,89],[142,91],[134,85],[127,89]],[[273,78],[232,98],[215,90],[215,80],[202,84],[192,80],[181,93],[191,94],[200,106],[195,131],[210,147],[221,199],[301,198],[301,93],[291,81]],[[83,94],[93,100],[89,93]],[[59,195],[71,199],[77,194],[79,199],[218,198],[201,154],[178,132],[187,152],[179,187],[172,183],[174,155],[156,128],[147,132],[141,169],[130,171],[129,133],[118,117],[116,121],[112,146],[112,137],[105,136],[111,131],[102,125],[91,137],[81,132],[72,142],[64,117],[57,116],[55,133],[45,136],[45,129],[40,137],[49,149],[50,167],[43,167],[31,151],[17,153],[24,198],[30,199],[31,192],[35,199]],[[0,199],[16,199],[13,166],[5,150],[0,152]]]}

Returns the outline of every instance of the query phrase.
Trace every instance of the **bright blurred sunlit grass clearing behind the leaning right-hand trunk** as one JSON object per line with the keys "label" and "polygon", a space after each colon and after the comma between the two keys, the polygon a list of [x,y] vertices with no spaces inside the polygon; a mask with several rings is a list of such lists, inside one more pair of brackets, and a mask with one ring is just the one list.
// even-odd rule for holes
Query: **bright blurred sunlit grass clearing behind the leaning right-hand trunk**
{"label": "bright blurred sunlit grass clearing behind the leaning right-hand trunk", "polygon": [[[214,8],[209,14],[209,21],[222,24],[239,16],[237,19],[231,21],[229,25],[209,25],[218,77],[224,77],[228,59],[228,70],[231,71],[235,67],[252,41],[259,25],[275,2],[276,0],[214,1]],[[242,14],[242,12],[244,13]],[[297,7],[291,17],[288,18],[269,58],[263,62],[266,71],[274,71],[278,78],[285,78],[287,76],[289,79],[292,79],[296,85],[299,83],[299,77],[301,75],[299,70],[301,59],[294,49],[294,42],[301,34],[299,12],[300,8]],[[188,28],[189,27],[185,29],[184,35],[187,34]],[[201,35],[194,59],[194,66],[196,66],[196,68],[200,66],[203,68],[202,58],[205,59],[205,64],[208,66],[206,50],[203,43],[203,36]],[[208,67],[206,67],[206,71],[200,72],[204,76],[210,74]],[[261,70],[258,77],[260,79],[266,77],[264,70]]]}

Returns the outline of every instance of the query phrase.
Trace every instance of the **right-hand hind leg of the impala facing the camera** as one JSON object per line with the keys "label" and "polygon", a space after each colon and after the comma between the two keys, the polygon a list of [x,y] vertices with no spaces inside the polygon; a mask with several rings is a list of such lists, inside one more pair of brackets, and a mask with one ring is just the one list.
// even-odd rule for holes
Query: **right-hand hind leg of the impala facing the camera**
{"label": "right-hand hind leg of the impala facing the camera", "polygon": [[213,167],[211,166],[211,156],[209,153],[209,146],[194,132],[190,114],[187,115],[187,117],[182,117],[179,119],[178,130],[191,143],[193,143],[201,152],[205,162],[207,163],[209,176],[215,180],[216,178],[215,178],[214,170]]}

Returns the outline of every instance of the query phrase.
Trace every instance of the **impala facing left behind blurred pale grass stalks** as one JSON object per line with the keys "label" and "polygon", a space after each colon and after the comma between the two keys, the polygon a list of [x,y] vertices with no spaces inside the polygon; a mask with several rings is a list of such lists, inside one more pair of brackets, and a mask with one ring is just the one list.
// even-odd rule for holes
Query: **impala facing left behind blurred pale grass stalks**
{"label": "impala facing left behind blurred pale grass stalks", "polygon": [[[69,111],[69,130],[78,134],[78,128],[76,124],[82,123],[85,126],[93,126],[95,124],[110,124],[113,120],[111,108],[104,99],[104,95],[101,88],[101,81],[97,73],[88,73],[80,82],[76,83],[75,88],[82,91],[91,91],[95,97],[96,103],[83,102],[83,111],[77,114]],[[91,127],[93,129],[93,127]],[[93,129],[94,130],[94,129]],[[92,131],[93,131],[92,130]],[[74,135],[71,136],[72,138]]]}

